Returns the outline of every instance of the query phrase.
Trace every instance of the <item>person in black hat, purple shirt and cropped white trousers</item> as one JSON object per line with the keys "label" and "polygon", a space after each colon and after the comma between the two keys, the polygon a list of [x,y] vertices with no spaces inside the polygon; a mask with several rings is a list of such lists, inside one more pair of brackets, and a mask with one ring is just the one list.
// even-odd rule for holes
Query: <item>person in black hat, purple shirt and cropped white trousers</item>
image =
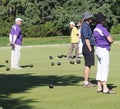
{"label": "person in black hat, purple shirt and cropped white trousers", "polygon": [[97,92],[104,94],[113,94],[115,91],[110,90],[107,86],[108,72],[109,72],[109,52],[113,39],[104,26],[106,16],[102,13],[95,15],[97,25],[94,29],[96,56],[97,56]]}

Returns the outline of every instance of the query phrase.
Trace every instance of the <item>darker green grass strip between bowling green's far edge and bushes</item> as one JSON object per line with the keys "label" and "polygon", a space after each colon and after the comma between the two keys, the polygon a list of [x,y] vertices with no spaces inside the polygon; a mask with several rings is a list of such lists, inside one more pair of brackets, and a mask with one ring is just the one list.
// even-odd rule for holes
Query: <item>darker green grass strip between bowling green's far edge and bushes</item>
{"label": "darker green grass strip between bowling green's far edge and bushes", "polygon": [[[112,35],[115,41],[120,41],[120,35]],[[0,37],[0,47],[8,46],[9,38]],[[23,46],[27,45],[49,45],[49,44],[65,44],[70,43],[70,36],[54,36],[39,38],[23,38]]]}

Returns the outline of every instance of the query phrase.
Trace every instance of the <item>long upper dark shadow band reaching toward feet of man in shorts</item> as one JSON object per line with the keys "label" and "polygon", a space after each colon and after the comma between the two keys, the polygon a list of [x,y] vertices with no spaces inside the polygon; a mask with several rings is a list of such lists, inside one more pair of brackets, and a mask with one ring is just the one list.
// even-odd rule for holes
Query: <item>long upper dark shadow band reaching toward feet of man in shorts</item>
{"label": "long upper dark shadow band reaching toward feet of man in shorts", "polygon": [[83,81],[83,77],[79,76],[32,76],[23,75],[0,75],[0,94],[21,93],[30,88],[38,86],[48,86],[50,82],[56,86],[77,85]]}

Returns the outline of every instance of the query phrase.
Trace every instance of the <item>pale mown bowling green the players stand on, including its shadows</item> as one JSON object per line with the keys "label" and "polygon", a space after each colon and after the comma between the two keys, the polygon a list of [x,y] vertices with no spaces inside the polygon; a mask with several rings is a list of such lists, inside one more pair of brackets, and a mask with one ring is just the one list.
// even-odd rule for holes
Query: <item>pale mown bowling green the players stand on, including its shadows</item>
{"label": "pale mown bowling green the players stand on, including its shadows", "polygon": [[[109,87],[117,93],[105,95],[96,93],[97,88],[83,88],[84,60],[71,65],[66,58],[68,45],[23,47],[21,70],[6,71],[10,66],[10,48],[0,48],[0,106],[3,109],[119,109],[120,108],[120,43],[111,51]],[[50,60],[49,55],[54,59]],[[60,61],[61,66],[51,66]],[[27,65],[33,64],[33,68]],[[92,67],[90,80],[95,80],[96,65]],[[49,89],[49,82],[54,88]]]}

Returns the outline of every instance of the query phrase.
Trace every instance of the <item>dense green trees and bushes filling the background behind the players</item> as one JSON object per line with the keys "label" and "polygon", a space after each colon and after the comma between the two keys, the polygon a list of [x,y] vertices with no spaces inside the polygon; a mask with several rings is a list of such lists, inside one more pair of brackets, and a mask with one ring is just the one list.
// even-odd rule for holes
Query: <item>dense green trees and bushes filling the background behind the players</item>
{"label": "dense green trees and bushes filling the background behind the players", "polygon": [[0,36],[8,36],[16,17],[23,22],[24,37],[69,34],[69,22],[77,23],[84,11],[102,12],[107,27],[120,33],[119,0],[0,0]]}

